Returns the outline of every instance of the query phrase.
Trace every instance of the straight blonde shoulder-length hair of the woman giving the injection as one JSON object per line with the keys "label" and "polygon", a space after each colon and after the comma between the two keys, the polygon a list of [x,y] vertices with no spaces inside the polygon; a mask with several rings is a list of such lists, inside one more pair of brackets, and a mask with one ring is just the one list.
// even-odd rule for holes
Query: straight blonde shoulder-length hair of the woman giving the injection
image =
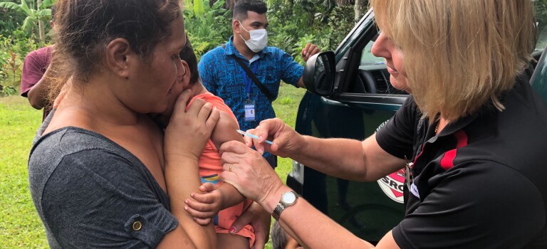
{"label": "straight blonde shoulder-length hair of the woman giving the injection", "polygon": [[371,0],[370,6],[402,50],[424,117],[442,113],[454,122],[489,101],[504,110],[499,98],[532,59],[529,0]]}

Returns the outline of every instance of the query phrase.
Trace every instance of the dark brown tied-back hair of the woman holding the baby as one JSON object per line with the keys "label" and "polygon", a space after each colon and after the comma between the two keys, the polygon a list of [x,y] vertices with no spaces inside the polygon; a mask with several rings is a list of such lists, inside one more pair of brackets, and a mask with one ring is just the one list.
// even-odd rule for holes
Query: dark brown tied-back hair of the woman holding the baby
{"label": "dark brown tied-back hair of the woman holding the baby", "polygon": [[54,42],[58,79],[50,98],[73,77],[87,82],[105,65],[105,48],[115,38],[125,38],[144,61],[157,43],[171,36],[170,26],[182,16],[180,0],[57,0]]}

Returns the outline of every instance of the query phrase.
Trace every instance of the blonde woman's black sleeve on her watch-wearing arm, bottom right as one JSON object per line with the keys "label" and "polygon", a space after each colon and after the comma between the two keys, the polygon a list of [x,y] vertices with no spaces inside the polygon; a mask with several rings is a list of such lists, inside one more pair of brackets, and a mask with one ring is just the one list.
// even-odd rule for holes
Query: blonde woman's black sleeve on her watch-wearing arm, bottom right
{"label": "blonde woman's black sleeve on her watch-wearing arm, bottom right", "polygon": [[397,245],[525,247],[545,223],[543,199],[537,187],[518,171],[492,161],[460,166],[393,228]]}

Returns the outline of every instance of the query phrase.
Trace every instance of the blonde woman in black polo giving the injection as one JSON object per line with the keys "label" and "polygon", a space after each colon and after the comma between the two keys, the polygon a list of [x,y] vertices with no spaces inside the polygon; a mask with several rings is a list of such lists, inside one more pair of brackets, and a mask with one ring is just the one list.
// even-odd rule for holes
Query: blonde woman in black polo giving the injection
{"label": "blonde woman in black polo giving the injection", "polygon": [[[406,167],[405,218],[377,248],[547,248],[547,108],[523,73],[536,42],[531,1],[370,6],[381,30],[372,53],[385,58],[391,84],[410,92],[395,116],[364,141],[265,120],[247,146],[355,181]],[[236,142],[220,150],[223,180],[303,247],[374,247],[284,186],[259,152]]]}

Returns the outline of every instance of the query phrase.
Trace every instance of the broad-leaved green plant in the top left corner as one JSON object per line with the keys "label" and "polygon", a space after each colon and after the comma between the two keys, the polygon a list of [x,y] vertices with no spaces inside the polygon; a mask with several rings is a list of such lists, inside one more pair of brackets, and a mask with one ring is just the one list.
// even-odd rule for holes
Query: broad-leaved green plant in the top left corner
{"label": "broad-leaved green plant in the top left corner", "polygon": [[44,31],[43,21],[51,19],[51,9],[48,9],[53,5],[53,0],[37,0],[35,4],[28,6],[25,0],[21,0],[21,4],[16,4],[11,1],[0,2],[0,8],[11,9],[12,11],[18,11],[21,14],[25,14],[26,18],[21,25],[21,29],[24,31],[30,31],[34,33],[36,26],[38,26],[38,37],[42,43],[46,42],[46,34]]}

